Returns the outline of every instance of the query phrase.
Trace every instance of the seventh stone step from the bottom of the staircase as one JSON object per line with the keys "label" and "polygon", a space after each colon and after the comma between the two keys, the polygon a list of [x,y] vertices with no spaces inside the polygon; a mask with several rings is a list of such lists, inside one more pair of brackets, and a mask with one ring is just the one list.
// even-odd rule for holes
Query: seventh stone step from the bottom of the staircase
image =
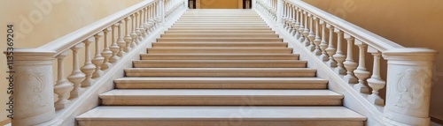
{"label": "seventh stone step from the bottom of the staircase", "polygon": [[148,54],[291,54],[292,48],[148,48]]}

